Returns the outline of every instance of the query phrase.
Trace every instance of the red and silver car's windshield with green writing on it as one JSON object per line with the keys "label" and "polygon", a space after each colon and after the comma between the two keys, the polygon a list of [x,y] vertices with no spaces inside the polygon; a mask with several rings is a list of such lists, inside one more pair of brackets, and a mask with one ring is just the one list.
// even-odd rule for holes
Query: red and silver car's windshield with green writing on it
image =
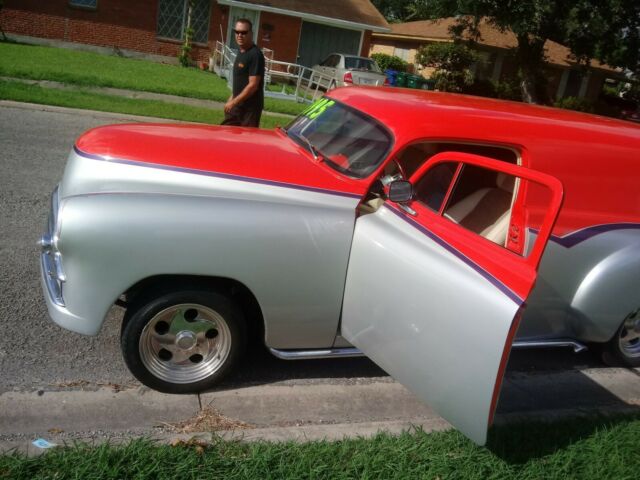
{"label": "red and silver car's windshield with green writing on it", "polygon": [[314,157],[356,178],[369,176],[392,144],[390,133],[373,118],[326,97],[302,112],[286,132]]}

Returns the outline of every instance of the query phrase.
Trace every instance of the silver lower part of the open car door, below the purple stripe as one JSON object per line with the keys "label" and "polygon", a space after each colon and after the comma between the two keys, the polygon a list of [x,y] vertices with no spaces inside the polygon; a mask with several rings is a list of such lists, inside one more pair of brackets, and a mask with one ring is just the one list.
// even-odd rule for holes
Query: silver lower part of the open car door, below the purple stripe
{"label": "silver lower part of the open car door, below the purple stripe", "polygon": [[358,218],[342,335],[479,444],[519,307],[389,208]]}

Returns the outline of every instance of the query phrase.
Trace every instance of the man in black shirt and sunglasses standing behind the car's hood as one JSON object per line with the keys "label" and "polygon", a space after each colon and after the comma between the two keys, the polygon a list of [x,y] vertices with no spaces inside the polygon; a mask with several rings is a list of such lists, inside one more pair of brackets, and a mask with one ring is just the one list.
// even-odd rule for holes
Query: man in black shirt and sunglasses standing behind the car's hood
{"label": "man in black shirt and sunglasses standing behind the car's hood", "polygon": [[258,127],[264,106],[264,55],[253,43],[250,20],[236,22],[233,34],[240,51],[233,62],[233,92],[224,105],[222,125]]}

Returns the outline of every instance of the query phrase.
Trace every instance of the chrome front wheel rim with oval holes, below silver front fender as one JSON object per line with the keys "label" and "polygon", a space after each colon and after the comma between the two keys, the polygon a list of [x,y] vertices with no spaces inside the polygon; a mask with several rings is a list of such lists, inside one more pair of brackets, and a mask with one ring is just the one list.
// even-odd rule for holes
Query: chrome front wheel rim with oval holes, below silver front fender
{"label": "chrome front wheel rim with oval holes, below silver front fender", "polygon": [[195,303],[173,305],[142,330],[140,359],[155,377],[186,384],[204,380],[224,365],[231,331],[215,310]]}

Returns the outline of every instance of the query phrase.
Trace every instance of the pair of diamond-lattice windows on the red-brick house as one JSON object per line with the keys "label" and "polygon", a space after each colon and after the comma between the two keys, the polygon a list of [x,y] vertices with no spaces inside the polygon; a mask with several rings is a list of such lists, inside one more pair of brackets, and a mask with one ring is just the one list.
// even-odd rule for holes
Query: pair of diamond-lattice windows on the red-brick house
{"label": "pair of diamond-lattice windows on the red-brick house", "polygon": [[[187,28],[190,0],[160,0],[158,6],[158,36],[182,40]],[[209,0],[194,0],[191,13],[193,41],[207,43],[209,37]]]}

